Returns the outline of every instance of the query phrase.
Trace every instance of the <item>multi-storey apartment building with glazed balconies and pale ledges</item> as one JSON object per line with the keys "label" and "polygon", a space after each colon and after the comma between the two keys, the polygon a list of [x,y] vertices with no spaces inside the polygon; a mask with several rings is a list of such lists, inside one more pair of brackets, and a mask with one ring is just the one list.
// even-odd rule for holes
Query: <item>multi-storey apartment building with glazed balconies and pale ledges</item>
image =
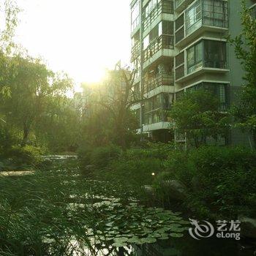
{"label": "multi-storey apartment building with glazed balconies and pale ledges", "polygon": [[[256,2],[247,0],[256,15]],[[227,34],[241,31],[240,0],[133,0],[131,61],[138,70],[135,90],[143,97],[140,132],[157,140],[183,140],[168,131],[166,111],[188,90],[205,88],[222,110],[236,102],[243,71]],[[248,144],[234,129],[223,143]]]}

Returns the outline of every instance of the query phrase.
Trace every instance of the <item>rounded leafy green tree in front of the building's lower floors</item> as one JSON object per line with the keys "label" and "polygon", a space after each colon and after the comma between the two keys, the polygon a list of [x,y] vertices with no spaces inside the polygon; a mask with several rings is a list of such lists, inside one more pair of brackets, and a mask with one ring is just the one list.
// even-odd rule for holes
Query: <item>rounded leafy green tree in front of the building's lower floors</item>
{"label": "rounded leafy green tree in front of the building's lower floors", "polygon": [[217,97],[206,90],[187,92],[176,100],[170,110],[171,127],[186,135],[195,147],[206,145],[208,138],[218,143],[219,136],[227,137],[230,117],[219,111]]}

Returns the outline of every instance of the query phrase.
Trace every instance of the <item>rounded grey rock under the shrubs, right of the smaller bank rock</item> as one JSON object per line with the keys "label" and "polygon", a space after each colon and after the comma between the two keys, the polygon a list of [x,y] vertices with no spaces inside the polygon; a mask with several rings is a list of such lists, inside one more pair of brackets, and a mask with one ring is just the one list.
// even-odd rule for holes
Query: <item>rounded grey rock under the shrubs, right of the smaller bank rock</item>
{"label": "rounded grey rock under the shrubs, right of the smaller bank rock", "polygon": [[174,200],[184,200],[187,197],[187,187],[177,180],[162,181],[162,188]]}

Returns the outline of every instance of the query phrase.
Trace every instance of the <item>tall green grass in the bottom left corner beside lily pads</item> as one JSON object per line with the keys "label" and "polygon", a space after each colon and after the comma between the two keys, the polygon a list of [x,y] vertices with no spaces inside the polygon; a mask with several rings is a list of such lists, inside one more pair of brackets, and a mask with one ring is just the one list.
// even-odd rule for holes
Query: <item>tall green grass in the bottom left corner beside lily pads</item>
{"label": "tall green grass in the bottom left corner beside lily pads", "polygon": [[[102,187],[71,170],[0,178],[0,255],[97,255],[89,228]],[[72,169],[74,170],[74,169]]]}

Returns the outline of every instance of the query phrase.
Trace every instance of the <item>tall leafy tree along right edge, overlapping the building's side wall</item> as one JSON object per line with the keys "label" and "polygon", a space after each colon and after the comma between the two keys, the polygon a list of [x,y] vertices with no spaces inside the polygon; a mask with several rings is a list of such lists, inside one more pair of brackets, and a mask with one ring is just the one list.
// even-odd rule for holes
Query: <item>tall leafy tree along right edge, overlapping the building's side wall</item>
{"label": "tall leafy tree along right edge, overlapping the building's side wall", "polygon": [[252,132],[256,146],[256,20],[252,17],[251,10],[246,7],[246,1],[241,1],[241,7],[241,34],[234,38],[229,37],[236,57],[244,69],[244,84],[233,114],[238,127]]}

